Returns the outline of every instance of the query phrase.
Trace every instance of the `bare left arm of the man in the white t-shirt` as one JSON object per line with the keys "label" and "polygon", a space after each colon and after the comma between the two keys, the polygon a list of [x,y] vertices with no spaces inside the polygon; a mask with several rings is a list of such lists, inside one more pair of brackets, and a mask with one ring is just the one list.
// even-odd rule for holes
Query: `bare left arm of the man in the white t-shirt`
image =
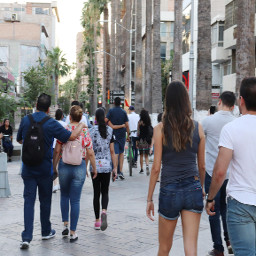
{"label": "bare left arm of the man in the white t-shirt", "polygon": [[[233,156],[232,149],[220,147],[219,154],[213,169],[212,182],[211,182],[211,186],[208,194],[209,200],[214,199],[214,197],[217,195],[218,191],[220,190],[223,182],[225,181],[228,166],[230,164],[232,156]],[[209,215],[211,216],[215,215],[215,212],[211,211],[214,209],[214,201],[210,203],[206,203],[205,208]]]}

